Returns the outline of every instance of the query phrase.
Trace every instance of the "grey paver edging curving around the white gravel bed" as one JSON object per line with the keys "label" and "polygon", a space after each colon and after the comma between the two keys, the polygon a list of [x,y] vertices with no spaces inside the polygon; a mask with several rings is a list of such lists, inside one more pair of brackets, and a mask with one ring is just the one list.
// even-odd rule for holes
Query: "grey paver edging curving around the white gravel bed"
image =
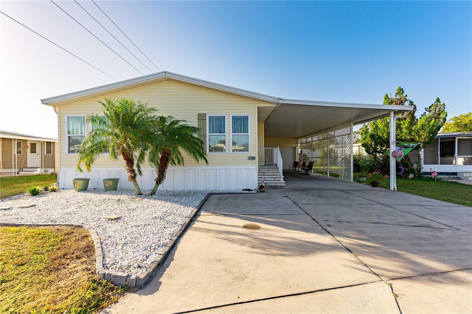
{"label": "grey paver edging curving around the white gravel bed", "polygon": [[143,273],[140,273],[139,276],[130,273],[117,272],[113,270],[106,270],[103,267],[103,254],[100,237],[98,236],[97,231],[95,231],[91,226],[87,224],[76,224],[76,223],[2,223],[0,226],[12,226],[12,227],[49,227],[49,226],[69,226],[69,227],[79,227],[87,229],[90,232],[90,236],[93,239],[93,244],[95,246],[95,273],[103,280],[111,281],[113,284],[122,286],[122,287],[141,287],[144,286],[152,277],[153,274],[157,271],[160,265],[162,265],[167,256],[169,255],[170,250],[174,247],[177,240],[179,240],[185,230],[197,215],[197,213],[202,209],[203,204],[206,202],[210,195],[223,195],[223,194],[259,194],[256,190],[255,193],[244,193],[244,192],[214,192],[207,193],[205,197],[200,201],[200,203],[195,207],[192,214],[185,220],[185,222],[180,226],[179,230],[174,233],[169,243],[158,253],[157,258],[149,265],[148,269]]}

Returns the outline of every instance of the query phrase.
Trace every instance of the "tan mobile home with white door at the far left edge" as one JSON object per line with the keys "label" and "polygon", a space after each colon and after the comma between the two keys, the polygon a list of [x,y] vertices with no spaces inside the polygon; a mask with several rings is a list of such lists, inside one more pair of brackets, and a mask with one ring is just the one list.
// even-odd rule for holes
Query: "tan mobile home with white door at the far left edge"
{"label": "tan mobile home with white door at the far left edge", "polygon": [[34,135],[0,131],[0,172],[13,175],[56,172],[57,141]]}

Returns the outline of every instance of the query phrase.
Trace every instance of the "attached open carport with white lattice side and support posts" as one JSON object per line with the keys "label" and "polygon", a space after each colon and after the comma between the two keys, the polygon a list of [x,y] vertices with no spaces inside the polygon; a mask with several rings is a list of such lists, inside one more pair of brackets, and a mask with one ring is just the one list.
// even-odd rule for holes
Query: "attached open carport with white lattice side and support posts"
{"label": "attached open carport with white lattice side and support posts", "polygon": [[[267,107],[258,107],[258,116],[264,116],[266,110]],[[263,124],[258,123],[259,134],[265,139],[277,139],[271,141],[272,147],[264,145],[263,151],[260,148],[259,154],[263,154],[260,159],[285,169],[288,163],[282,157],[284,143],[296,143],[300,161],[312,161],[314,170],[328,176],[334,173],[341,180],[353,182],[353,127],[384,117],[395,121],[410,110],[413,106],[280,99]],[[390,151],[395,150],[395,135],[393,123],[390,125]],[[268,155],[271,156],[268,158]],[[391,156],[390,178],[390,190],[396,190],[395,158]]]}

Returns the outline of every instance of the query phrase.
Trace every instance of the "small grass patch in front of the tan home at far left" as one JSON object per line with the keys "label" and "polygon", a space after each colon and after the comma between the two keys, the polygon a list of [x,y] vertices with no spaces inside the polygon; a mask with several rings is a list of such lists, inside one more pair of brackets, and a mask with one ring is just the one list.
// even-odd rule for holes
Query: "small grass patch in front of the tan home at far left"
{"label": "small grass patch in front of the tan home at far left", "polygon": [[0,178],[0,198],[25,193],[32,185],[51,185],[58,182],[57,174],[22,175]]}

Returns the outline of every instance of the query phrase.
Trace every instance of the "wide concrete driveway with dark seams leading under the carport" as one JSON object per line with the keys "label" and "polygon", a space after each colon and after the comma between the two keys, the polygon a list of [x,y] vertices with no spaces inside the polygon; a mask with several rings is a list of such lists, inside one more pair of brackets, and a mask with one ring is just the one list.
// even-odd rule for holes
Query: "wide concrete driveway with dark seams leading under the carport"
{"label": "wide concrete driveway with dark seams leading under the carport", "polygon": [[103,312],[472,313],[471,207],[285,180],[210,196],[152,281]]}

